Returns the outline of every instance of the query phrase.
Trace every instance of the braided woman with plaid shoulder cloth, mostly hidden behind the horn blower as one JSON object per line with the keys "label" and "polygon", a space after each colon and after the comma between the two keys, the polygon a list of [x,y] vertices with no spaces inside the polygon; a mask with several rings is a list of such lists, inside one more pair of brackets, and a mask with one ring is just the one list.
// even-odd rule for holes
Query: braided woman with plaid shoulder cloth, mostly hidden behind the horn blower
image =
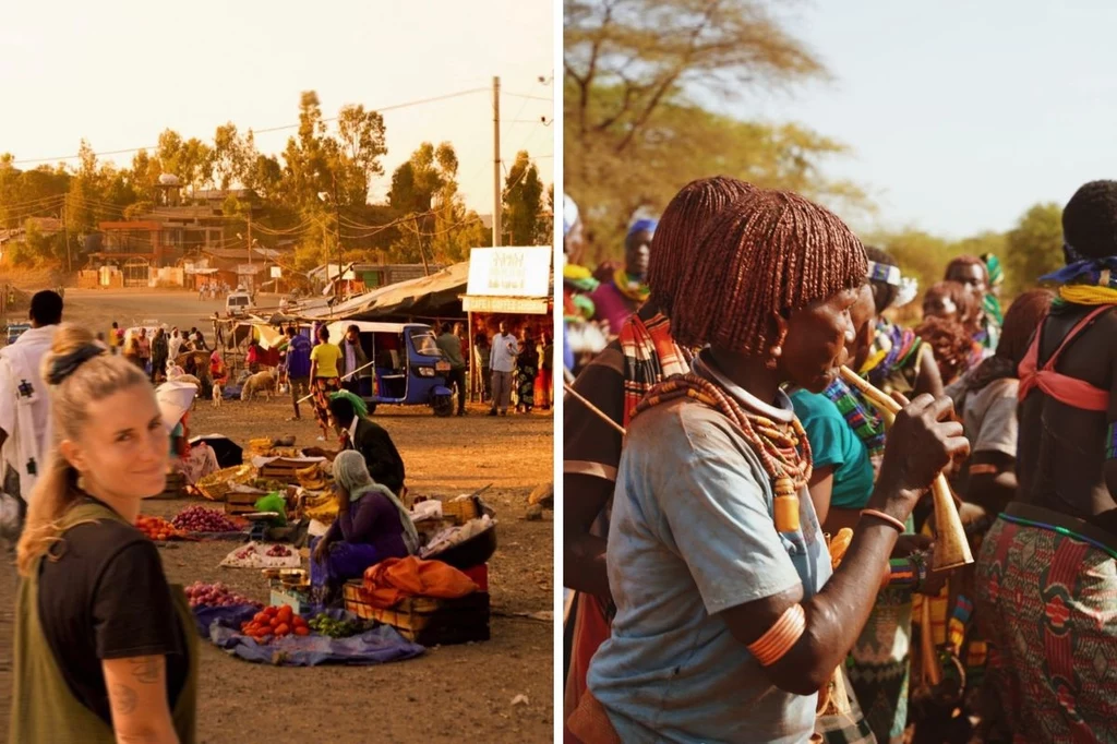
{"label": "braided woman with plaid shoulder cloth, mostly hidden behind the horn blower", "polygon": [[[685,185],[663,211],[649,263],[651,299],[621,327],[621,337],[598,354],[574,381],[576,393],[617,426],[628,426],[632,411],[651,385],[689,370],[671,338],[668,315],[660,308],[680,294],[685,267],[694,260],[700,230],[727,206],[747,198],[753,187],[728,178]],[[563,420],[564,543],[563,581],[577,590],[567,623],[564,664],[565,714],[585,689],[590,659],[609,637],[613,614],[605,574],[609,503],[621,458],[621,436],[593,411],[567,398]]]}

